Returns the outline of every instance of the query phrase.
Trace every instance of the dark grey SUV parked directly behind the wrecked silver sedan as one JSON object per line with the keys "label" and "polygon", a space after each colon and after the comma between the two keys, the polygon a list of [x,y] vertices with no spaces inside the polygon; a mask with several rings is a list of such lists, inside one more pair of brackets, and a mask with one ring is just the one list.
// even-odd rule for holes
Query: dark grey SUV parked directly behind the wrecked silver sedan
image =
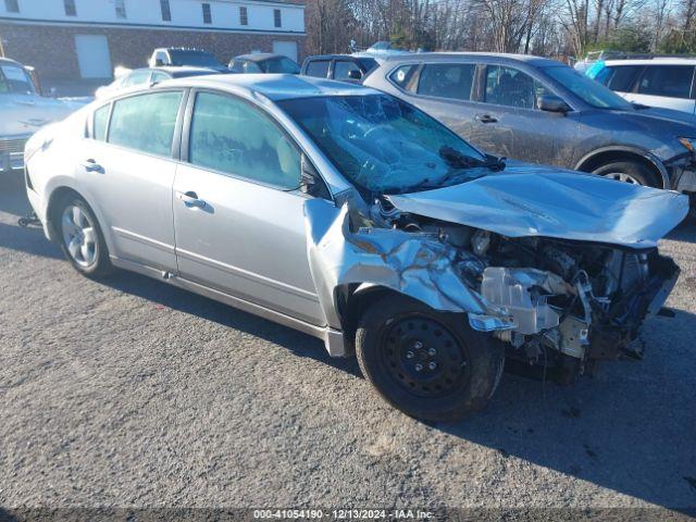
{"label": "dark grey SUV parked directly behind the wrecked silver sedan", "polygon": [[364,85],[414,104],[497,156],[696,191],[694,115],[632,104],[554,60],[391,57]]}

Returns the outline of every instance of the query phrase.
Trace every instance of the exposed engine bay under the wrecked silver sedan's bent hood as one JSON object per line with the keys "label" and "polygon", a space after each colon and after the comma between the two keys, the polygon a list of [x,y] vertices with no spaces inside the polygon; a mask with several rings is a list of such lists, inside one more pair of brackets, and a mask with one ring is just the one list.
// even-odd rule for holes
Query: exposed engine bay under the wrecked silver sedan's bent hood
{"label": "exposed engine bay under the wrecked silver sedan's bent hood", "polygon": [[557,375],[563,380],[592,372],[597,360],[641,357],[631,341],[645,318],[660,310],[680,273],[655,247],[509,238],[402,213],[388,200],[377,201],[372,214],[381,226],[431,234],[453,248],[459,276],[508,316],[500,325],[499,313],[470,313],[471,326],[493,332],[507,344],[508,357],[562,366]]}

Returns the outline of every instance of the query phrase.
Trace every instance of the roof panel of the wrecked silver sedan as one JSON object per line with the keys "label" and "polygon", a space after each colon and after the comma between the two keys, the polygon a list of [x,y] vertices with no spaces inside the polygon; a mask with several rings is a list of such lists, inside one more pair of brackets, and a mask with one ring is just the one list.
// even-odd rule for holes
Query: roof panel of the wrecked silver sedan
{"label": "roof panel of the wrecked silver sedan", "polygon": [[199,87],[224,90],[250,98],[259,95],[273,100],[314,98],[323,96],[364,96],[381,94],[356,84],[334,82],[296,74],[219,74],[191,76],[159,84],[161,87]]}

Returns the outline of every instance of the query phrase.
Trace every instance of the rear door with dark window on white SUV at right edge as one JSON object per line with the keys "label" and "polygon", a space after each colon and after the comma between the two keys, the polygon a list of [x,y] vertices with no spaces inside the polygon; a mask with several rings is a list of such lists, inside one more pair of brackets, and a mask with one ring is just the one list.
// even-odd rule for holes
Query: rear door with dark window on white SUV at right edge
{"label": "rear door with dark window on white SUV at right edge", "polygon": [[646,65],[634,92],[626,99],[634,103],[694,113],[693,65]]}

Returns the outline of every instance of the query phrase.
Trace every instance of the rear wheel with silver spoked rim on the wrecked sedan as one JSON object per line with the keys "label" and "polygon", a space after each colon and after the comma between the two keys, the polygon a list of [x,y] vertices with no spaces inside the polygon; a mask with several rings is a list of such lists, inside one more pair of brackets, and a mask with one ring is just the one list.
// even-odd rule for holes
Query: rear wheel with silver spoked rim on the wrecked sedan
{"label": "rear wheel with silver spoked rim on the wrecked sedan", "polygon": [[61,249],[77,272],[94,279],[113,272],[99,222],[83,198],[67,197],[58,207],[54,225]]}

